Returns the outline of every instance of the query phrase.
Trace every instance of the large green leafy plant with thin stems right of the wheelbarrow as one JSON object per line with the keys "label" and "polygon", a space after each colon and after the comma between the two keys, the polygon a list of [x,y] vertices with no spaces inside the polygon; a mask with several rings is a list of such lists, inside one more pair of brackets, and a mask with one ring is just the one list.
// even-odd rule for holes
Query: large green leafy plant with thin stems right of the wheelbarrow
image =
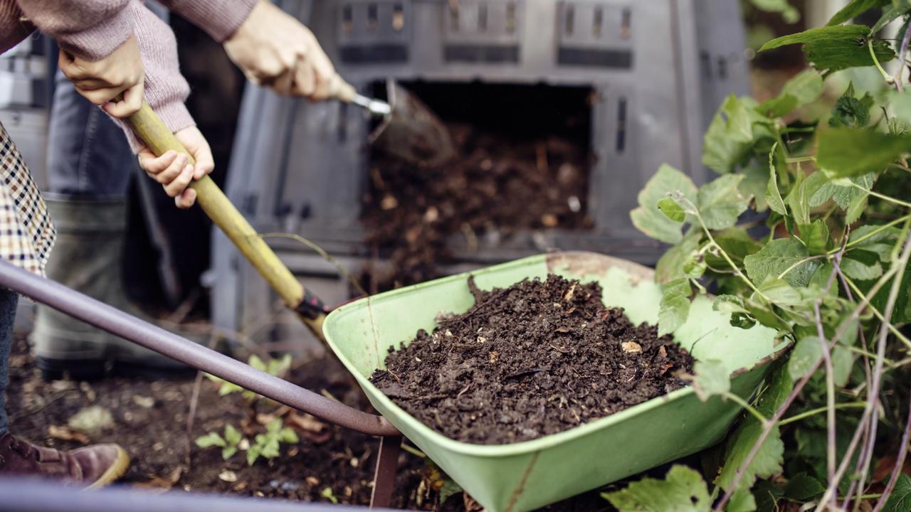
{"label": "large green leafy plant with thin stems right of the wheelbarrow", "polygon": [[[872,8],[883,8],[875,26],[844,25]],[[640,191],[630,219],[670,244],[656,268],[660,333],[687,322],[693,294],[711,291],[732,325],[772,328],[792,348],[749,403],[731,394],[722,365],[696,364],[702,400],[747,412],[718,471],[703,480],[675,466],[607,494],[620,510],[749,512],[781,500],[909,509],[911,480],[900,476],[911,434],[909,18],[906,0],[853,0],[827,26],[767,42],[762,51],[802,45],[812,68],[762,103],[725,99],[702,155],[717,178],[697,186],[664,165]],[[898,40],[880,38],[896,19]],[[896,59],[890,75],[884,64]],[[875,67],[881,87],[842,85],[827,118],[802,119],[825,80],[851,67]],[[875,464],[888,469],[882,482],[871,480]]]}

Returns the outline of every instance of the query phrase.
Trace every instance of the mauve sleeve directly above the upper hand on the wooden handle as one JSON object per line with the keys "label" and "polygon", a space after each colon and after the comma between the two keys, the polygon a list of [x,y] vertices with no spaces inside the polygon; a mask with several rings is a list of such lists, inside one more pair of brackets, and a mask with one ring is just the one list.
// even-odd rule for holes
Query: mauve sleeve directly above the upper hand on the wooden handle
{"label": "mauve sleeve directly above the upper hand on the wooden handle", "polygon": [[61,48],[87,60],[98,60],[133,33],[130,0],[17,0],[39,30]]}

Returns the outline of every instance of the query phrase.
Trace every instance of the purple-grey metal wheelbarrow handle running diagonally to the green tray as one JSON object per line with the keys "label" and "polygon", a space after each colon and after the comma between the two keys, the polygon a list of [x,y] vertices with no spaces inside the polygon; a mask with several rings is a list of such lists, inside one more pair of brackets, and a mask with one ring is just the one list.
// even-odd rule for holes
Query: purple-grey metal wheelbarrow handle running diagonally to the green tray
{"label": "purple-grey metal wheelbarrow handle running diagonally to the green tray", "polygon": [[208,347],[169,333],[66,286],[0,261],[0,286],[31,297],[57,311],[114,333],[149,350],[213,374],[281,404],[289,405],[336,425],[369,435],[401,435],[384,417],[368,415],[321,394],[217,353]]}

